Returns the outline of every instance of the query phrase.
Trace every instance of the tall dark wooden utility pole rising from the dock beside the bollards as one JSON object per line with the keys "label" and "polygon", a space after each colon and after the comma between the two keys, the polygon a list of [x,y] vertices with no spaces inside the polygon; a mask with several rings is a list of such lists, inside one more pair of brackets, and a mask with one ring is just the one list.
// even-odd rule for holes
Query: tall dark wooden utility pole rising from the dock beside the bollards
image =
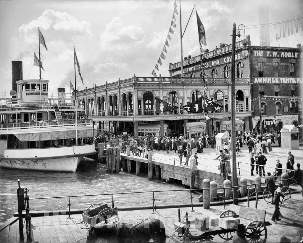
{"label": "tall dark wooden utility pole rising from the dock beside the bollards", "polygon": [[238,178],[237,178],[237,158],[236,158],[236,91],[235,91],[235,55],[236,55],[236,24],[232,26],[232,51],[231,51],[231,151],[232,151],[232,185],[233,189],[233,201],[234,204],[238,204]]}

